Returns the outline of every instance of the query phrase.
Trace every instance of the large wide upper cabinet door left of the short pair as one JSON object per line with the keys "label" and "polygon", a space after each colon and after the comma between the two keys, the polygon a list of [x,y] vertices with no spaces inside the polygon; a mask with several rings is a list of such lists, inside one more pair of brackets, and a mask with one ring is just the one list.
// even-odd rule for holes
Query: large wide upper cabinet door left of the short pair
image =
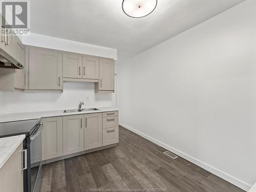
{"label": "large wide upper cabinet door left of the short pair", "polygon": [[29,89],[62,90],[62,53],[43,48],[29,49]]}

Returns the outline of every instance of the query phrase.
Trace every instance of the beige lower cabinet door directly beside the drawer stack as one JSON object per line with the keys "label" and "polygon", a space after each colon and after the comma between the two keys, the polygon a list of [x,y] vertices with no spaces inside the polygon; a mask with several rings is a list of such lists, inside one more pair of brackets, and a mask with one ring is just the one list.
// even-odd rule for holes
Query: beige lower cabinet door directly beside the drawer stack
{"label": "beige lower cabinet door directly beside the drawer stack", "polygon": [[102,146],[102,113],[84,115],[84,150]]}

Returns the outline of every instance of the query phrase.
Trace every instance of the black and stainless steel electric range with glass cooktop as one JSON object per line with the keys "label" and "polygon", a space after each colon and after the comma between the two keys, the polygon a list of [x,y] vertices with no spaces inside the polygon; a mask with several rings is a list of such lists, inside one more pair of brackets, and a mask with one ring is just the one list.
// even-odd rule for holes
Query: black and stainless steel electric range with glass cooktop
{"label": "black and stainless steel electric range with glass cooktop", "polygon": [[25,134],[23,141],[24,191],[37,192],[40,189],[41,172],[41,131],[40,119],[0,123],[0,137]]}

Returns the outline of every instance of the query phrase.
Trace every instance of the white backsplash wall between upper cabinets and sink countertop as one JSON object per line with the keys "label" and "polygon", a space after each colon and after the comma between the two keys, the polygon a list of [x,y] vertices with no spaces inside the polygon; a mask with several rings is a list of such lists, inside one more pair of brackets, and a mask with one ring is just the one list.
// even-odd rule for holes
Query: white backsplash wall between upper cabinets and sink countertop
{"label": "white backsplash wall between upper cabinets and sink countertop", "polygon": [[[64,82],[63,93],[0,92],[0,114],[115,106],[115,94],[94,92],[93,82]],[[89,97],[89,100],[87,98]]]}

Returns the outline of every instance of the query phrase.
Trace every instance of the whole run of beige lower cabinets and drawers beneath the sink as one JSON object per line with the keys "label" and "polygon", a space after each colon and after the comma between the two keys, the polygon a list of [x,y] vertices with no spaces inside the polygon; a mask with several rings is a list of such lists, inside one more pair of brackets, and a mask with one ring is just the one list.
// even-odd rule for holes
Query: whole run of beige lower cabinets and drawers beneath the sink
{"label": "whole run of beige lower cabinets and drawers beneath the sink", "polygon": [[119,142],[117,111],[41,118],[41,122],[43,161]]}

